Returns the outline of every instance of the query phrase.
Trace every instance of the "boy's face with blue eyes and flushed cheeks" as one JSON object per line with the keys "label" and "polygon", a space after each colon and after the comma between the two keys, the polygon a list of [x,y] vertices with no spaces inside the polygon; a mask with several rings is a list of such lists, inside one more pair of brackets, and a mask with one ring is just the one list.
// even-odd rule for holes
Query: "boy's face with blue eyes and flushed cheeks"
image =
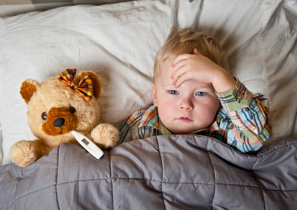
{"label": "boy's face with blue eyes and flushed cheeks", "polygon": [[190,134],[207,128],[219,109],[219,99],[212,84],[188,80],[175,88],[172,85],[171,63],[174,57],[160,65],[161,74],[153,84],[151,97],[158,107],[162,123],[174,134]]}

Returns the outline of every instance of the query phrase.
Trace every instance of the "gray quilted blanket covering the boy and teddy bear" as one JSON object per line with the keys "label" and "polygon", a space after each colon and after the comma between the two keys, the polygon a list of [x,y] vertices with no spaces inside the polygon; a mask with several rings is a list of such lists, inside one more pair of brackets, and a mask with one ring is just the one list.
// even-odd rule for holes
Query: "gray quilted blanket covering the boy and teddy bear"
{"label": "gray quilted blanket covering the boy and teddy bear", "polygon": [[102,160],[62,144],[0,174],[0,209],[296,209],[297,137],[247,155],[205,136],[157,136]]}

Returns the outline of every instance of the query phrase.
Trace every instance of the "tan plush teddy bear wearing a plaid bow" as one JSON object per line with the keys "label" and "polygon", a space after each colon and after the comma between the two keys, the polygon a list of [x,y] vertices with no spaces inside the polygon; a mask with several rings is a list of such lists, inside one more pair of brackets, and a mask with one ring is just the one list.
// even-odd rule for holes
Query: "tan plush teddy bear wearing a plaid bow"
{"label": "tan plush teddy bear wearing a plaid bow", "polygon": [[62,144],[78,144],[70,131],[78,131],[100,148],[117,144],[119,131],[108,123],[98,125],[97,100],[101,84],[96,74],[86,71],[76,78],[76,69],[39,83],[27,79],[20,94],[25,100],[28,123],[36,140],[21,140],[10,148],[12,162],[25,167]]}

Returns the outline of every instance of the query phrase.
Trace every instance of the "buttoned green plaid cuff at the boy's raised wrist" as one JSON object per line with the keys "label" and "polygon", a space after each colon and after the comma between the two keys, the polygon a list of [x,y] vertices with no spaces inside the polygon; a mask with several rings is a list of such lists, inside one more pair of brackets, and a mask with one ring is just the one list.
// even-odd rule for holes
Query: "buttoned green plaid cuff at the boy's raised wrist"
{"label": "buttoned green plaid cuff at the boy's raised wrist", "polygon": [[233,78],[236,80],[236,84],[233,88],[223,93],[216,93],[223,108],[227,112],[234,112],[249,107],[254,96],[237,77]]}

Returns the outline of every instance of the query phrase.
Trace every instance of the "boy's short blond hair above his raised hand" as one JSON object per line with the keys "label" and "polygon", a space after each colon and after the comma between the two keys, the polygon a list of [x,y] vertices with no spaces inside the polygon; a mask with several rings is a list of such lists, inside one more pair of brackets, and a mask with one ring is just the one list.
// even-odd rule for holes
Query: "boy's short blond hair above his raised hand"
{"label": "boy's short blond hair above his raised hand", "polygon": [[219,45],[217,40],[205,32],[198,32],[194,29],[185,28],[176,31],[173,27],[163,47],[156,55],[154,63],[154,79],[156,84],[157,78],[160,75],[160,65],[170,56],[179,54],[193,54],[194,49],[197,48],[203,56],[211,59],[220,67],[229,72],[228,59],[224,50]]}

